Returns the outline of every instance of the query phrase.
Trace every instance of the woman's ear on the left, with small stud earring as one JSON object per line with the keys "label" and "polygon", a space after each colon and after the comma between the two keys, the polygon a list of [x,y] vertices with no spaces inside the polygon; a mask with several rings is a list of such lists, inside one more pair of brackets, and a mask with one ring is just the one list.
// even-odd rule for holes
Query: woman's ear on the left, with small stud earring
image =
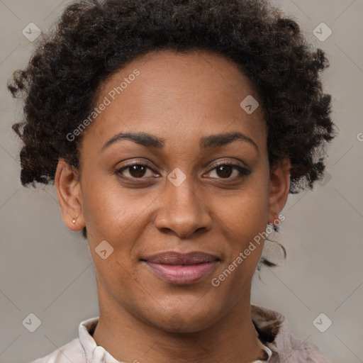
{"label": "woman's ear on the left, with small stud earring", "polygon": [[[69,230],[82,230],[85,226],[82,213],[82,194],[77,170],[65,160],[58,160],[55,187],[62,211],[63,221]],[[73,223],[75,220],[75,223]]]}

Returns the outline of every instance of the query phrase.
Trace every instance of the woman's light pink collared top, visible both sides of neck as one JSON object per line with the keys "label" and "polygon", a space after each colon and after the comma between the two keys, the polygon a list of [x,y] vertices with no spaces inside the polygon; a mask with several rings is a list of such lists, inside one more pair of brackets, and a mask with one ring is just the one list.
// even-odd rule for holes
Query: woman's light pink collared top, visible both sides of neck
{"label": "woman's light pink collared top, visible both sides of neck", "polygon": [[[291,333],[284,315],[253,304],[251,315],[259,332],[262,349],[266,351],[266,360],[251,363],[331,363],[318,347],[309,342],[301,342]],[[104,347],[96,345],[89,333],[93,333],[98,321],[99,317],[82,321],[79,324],[79,337],[30,363],[120,363]],[[135,362],[138,361],[135,359],[128,363]]]}

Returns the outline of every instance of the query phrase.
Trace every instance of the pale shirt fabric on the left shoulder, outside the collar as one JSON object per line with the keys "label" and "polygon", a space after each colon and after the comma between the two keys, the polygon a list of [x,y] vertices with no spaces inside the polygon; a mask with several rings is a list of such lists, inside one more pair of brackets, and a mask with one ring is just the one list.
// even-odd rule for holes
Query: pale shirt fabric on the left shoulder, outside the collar
{"label": "pale shirt fabric on the left shoulder, outside the collar", "polygon": [[45,357],[33,360],[30,363],[86,363],[84,350],[78,338],[74,338],[67,344],[56,349]]}

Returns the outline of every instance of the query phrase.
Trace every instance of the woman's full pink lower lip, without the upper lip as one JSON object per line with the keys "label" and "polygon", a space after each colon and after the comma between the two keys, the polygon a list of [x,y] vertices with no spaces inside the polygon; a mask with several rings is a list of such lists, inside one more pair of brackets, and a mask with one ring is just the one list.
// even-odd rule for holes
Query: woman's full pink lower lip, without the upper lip
{"label": "woman's full pink lower lip, without the upper lip", "polygon": [[194,284],[211,272],[217,261],[201,264],[157,264],[146,262],[152,272],[170,284]]}

